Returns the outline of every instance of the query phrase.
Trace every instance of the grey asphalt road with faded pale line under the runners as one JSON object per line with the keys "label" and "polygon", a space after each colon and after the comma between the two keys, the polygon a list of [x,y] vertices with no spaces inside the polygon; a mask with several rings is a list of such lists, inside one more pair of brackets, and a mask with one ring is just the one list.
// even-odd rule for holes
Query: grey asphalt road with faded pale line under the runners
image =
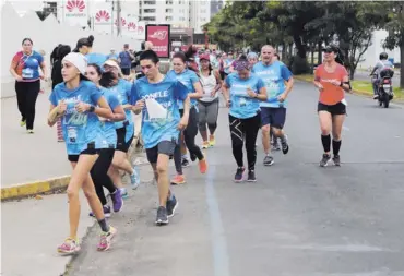
{"label": "grey asphalt road with faded pale line under the runners", "polygon": [[319,168],[317,92],[297,83],[286,131],[290,152],[234,183],[227,110],[221,109],[206,176],[194,165],[174,188],[177,215],[154,226],[156,187],[143,185],[111,217],[118,236],[96,252],[98,228],[73,261],[74,276],[404,275],[404,109],[347,96],[342,167]]}

